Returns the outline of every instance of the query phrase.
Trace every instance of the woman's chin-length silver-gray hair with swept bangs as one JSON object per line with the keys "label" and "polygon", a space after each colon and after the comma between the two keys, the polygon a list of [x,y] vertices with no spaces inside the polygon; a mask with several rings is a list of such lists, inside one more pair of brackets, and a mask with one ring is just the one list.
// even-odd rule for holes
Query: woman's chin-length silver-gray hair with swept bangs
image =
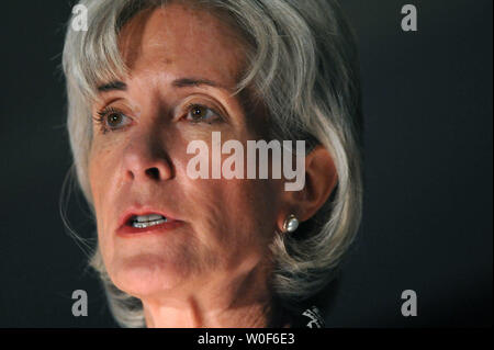
{"label": "woman's chin-length silver-gray hair with swept bangs", "polygon": [[[336,0],[187,2],[223,14],[245,38],[247,67],[235,93],[245,89],[254,93],[252,100],[262,101],[271,136],[306,139],[310,147],[323,145],[334,159],[338,182],[332,196],[316,215],[301,224],[296,235],[276,235],[271,245],[277,297],[289,305],[306,300],[334,278],[360,224],[362,122],[353,34]],[[67,127],[77,180],[93,215],[88,180],[92,99],[99,83],[127,72],[117,47],[122,26],[143,9],[166,3],[81,0],[88,9],[88,31],[67,30],[63,54]],[[104,282],[117,323],[144,327],[141,301],[112,283],[98,247],[91,266]]]}

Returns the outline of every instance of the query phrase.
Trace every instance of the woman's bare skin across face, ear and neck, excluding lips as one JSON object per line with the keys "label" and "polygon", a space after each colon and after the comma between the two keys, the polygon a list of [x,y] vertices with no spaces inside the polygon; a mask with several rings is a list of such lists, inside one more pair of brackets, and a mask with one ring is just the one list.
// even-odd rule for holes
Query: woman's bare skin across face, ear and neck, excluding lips
{"label": "woman's bare skin across face, ear and neck, excluding lips", "polygon": [[[103,124],[93,122],[89,158],[110,278],[142,300],[148,327],[268,326],[274,314],[269,242],[289,214],[307,219],[327,200],[336,183],[329,154],[318,147],[306,157],[300,192],[285,192],[282,180],[190,179],[191,140],[204,140],[211,151],[213,131],[222,142],[259,138],[261,113],[245,111],[228,91],[244,68],[242,41],[217,16],[173,3],[131,20],[120,47],[130,68],[126,89],[102,91],[93,104],[96,118],[111,108],[119,122],[109,124],[108,114]],[[172,84],[186,77],[225,89]],[[204,109],[210,117],[194,122],[189,103],[223,118]],[[117,221],[131,205],[151,205],[182,224],[121,237]]]}

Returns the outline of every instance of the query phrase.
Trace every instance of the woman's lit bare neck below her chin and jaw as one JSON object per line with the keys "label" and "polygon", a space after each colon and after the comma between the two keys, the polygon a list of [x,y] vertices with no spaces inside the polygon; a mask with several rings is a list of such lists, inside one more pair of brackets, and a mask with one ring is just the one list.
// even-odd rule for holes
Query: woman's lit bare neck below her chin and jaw
{"label": "woman's lit bare neck below her chin and jaw", "polygon": [[147,327],[268,327],[273,318],[271,292],[261,271],[234,281],[209,281],[180,293],[142,298]]}

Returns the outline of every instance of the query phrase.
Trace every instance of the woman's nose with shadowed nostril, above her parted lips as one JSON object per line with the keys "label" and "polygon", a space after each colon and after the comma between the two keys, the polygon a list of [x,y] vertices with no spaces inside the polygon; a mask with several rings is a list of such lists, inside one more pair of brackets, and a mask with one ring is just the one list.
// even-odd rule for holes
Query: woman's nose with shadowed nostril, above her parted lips
{"label": "woman's nose with shadowed nostril, above her parted lips", "polygon": [[169,156],[159,135],[142,133],[124,148],[123,167],[130,181],[162,181],[172,178]]}

